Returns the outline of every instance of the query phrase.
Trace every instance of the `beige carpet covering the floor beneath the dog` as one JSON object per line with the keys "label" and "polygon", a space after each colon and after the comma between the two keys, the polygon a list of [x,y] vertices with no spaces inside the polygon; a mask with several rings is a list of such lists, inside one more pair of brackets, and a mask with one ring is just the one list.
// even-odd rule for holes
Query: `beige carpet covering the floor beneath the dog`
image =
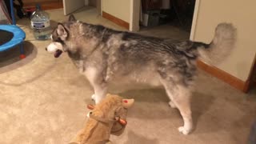
{"label": "beige carpet covering the floor beneath the dog", "polygon": [[[48,12],[54,22],[66,19],[62,10]],[[95,9],[79,10],[74,15],[85,22],[122,30],[99,17]],[[28,54],[29,60],[10,60],[14,56],[1,58],[0,143],[70,142],[82,129],[88,112],[86,104],[91,103],[93,90],[66,54],[54,58],[46,53],[49,41],[35,41],[28,20],[22,19],[18,24],[26,31],[30,51],[35,51]],[[188,38],[186,32],[173,26],[146,29],[142,33]],[[133,86],[127,90],[125,87],[112,86],[110,89],[136,101],[129,111],[125,133],[111,137],[115,144],[242,144],[246,143],[250,125],[256,120],[255,91],[242,94],[202,71],[192,98],[196,129],[188,136],[178,133],[182,118],[178,110],[168,106],[164,90],[146,86]]]}

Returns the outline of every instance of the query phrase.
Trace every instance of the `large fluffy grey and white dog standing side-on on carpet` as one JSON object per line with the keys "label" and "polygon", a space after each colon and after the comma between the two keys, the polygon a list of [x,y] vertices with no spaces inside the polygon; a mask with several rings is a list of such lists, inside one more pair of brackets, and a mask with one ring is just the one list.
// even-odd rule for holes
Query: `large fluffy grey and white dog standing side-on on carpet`
{"label": "large fluffy grey and white dog standing side-on on carpet", "polygon": [[221,23],[210,44],[177,42],[79,22],[71,15],[68,22],[58,23],[46,50],[56,58],[67,52],[94,87],[96,103],[105,97],[108,84],[120,82],[119,78],[164,86],[170,106],[182,114],[184,126],[178,130],[189,134],[193,129],[190,95],[196,60],[221,61],[234,47],[235,33],[234,26]]}

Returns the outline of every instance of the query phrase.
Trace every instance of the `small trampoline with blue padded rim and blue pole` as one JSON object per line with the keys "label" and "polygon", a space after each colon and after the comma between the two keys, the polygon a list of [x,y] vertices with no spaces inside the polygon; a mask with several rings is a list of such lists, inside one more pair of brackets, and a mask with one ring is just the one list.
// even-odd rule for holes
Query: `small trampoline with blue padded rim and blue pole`
{"label": "small trampoline with blue padded rim and blue pole", "polygon": [[[3,10],[5,8],[5,3],[2,0],[0,0],[0,6],[3,12],[6,11]],[[26,56],[24,54],[23,41],[26,38],[26,34],[21,28],[16,26],[13,0],[10,0],[10,13],[12,25],[0,25],[0,41],[2,41],[0,42],[0,52],[9,50],[14,46],[19,46],[20,58],[25,58]]]}

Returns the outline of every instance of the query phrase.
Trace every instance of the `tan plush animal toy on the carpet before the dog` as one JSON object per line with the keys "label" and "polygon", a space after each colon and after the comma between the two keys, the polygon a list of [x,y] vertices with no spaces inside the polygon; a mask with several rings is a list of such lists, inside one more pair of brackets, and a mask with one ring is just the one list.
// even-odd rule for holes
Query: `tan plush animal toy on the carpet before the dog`
{"label": "tan plush animal toy on the carpet before the dog", "polygon": [[123,99],[118,95],[107,94],[96,106],[88,105],[92,110],[86,126],[78,133],[74,144],[106,144],[110,134],[120,135],[126,127],[127,109],[134,99]]}

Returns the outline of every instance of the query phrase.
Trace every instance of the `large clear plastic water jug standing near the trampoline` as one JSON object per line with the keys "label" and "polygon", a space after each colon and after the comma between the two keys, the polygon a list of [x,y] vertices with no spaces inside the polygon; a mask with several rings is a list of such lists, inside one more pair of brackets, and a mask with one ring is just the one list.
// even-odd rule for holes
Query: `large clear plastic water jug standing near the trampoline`
{"label": "large clear plastic water jug standing near the trampoline", "polygon": [[30,19],[32,29],[34,30],[34,37],[36,39],[46,40],[50,38],[50,17],[44,10],[41,10],[40,5],[36,6],[36,10],[31,15]]}

